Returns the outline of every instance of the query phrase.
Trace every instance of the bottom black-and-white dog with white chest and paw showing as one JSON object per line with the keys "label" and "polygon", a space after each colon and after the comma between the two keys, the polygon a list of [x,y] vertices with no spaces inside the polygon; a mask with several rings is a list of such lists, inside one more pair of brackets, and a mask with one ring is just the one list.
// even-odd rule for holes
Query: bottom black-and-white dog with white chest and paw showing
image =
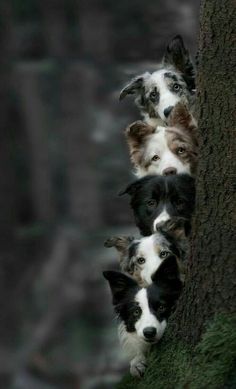
{"label": "bottom black-and-white dog with white chest and paw showing", "polygon": [[153,283],[142,288],[131,277],[105,271],[120,324],[121,345],[130,360],[130,373],[142,377],[146,354],[164,334],[167,319],[181,293],[182,282],[176,260],[169,257],[153,275]]}

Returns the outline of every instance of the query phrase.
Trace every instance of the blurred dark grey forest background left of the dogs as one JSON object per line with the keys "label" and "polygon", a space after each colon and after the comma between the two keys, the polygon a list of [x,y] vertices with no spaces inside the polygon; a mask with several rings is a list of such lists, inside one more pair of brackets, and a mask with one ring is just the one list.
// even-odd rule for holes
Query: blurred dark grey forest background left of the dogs
{"label": "blurred dark grey forest background left of the dogs", "polygon": [[[137,234],[120,89],[182,34],[196,0],[1,0],[0,388],[113,388],[128,365],[102,270]],[[125,197],[125,196],[124,196]]]}

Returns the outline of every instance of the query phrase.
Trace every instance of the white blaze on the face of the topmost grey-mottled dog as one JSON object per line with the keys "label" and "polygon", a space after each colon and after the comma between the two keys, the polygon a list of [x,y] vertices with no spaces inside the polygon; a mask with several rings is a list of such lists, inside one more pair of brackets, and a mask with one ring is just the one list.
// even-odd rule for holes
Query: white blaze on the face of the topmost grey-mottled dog
{"label": "white blaze on the face of the topmost grey-mottled dog", "polygon": [[156,106],[156,110],[162,120],[166,120],[164,110],[170,106],[174,107],[180,101],[180,97],[174,92],[171,92],[168,88],[166,82],[167,79],[164,77],[164,74],[168,72],[169,71],[166,69],[157,70],[148,79],[148,83],[150,83],[150,85],[156,86],[158,88],[160,97]]}

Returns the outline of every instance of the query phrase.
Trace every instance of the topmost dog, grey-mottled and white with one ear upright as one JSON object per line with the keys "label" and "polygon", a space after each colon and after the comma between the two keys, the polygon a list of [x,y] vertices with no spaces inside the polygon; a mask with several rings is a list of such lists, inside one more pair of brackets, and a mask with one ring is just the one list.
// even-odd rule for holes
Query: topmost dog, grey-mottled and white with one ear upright
{"label": "topmost dog, grey-mottled and white with one ear upright", "polygon": [[195,101],[195,70],[183,39],[177,35],[166,48],[158,69],[132,79],[122,89],[120,100],[135,96],[135,103],[144,121],[156,127],[166,122],[171,110],[178,103],[193,110]]}

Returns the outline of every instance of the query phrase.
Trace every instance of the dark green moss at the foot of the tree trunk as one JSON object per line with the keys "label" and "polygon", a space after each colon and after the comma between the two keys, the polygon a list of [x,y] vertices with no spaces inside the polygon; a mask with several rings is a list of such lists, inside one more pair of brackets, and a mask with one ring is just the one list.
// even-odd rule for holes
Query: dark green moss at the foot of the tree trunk
{"label": "dark green moss at the foot of the tree trunk", "polygon": [[188,345],[168,335],[149,356],[144,378],[127,375],[118,389],[233,388],[236,361],[236,315],[218,315],[209,324],[191,360]]}

